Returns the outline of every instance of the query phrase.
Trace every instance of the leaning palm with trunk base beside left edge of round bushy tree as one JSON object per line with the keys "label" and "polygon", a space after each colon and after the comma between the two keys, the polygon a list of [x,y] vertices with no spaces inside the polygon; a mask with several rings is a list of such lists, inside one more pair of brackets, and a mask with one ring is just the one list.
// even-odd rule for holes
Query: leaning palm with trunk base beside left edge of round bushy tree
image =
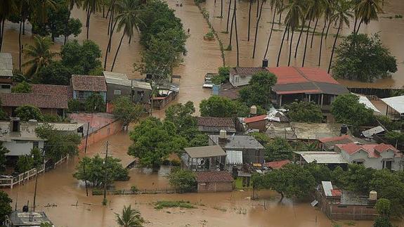
{"label": "leaning palm with trunk base beside left edge of round bushy tree", "polygon": [[338,25],[337,34],[335,35],[334,44],[332,45],[330,64],[328,65],[328,73],[330,73],[332,57],[334,56],[335,44],[337,43],[339,30],[343,25],[349,27],[349,18],[353,18],[352,12],[350,11],[351,6],[347,0],[339,0],[335,5],[334,14],[331,20],[334,21],[335,25]]}

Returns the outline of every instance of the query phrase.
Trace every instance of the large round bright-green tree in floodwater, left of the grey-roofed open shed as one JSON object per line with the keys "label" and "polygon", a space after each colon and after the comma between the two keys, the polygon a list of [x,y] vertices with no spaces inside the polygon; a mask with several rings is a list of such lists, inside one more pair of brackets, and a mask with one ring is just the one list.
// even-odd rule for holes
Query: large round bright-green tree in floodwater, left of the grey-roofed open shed
{"label": "large round bright-green tree in floodwater, left of the grey-roofed open shed", "polygon": [[176,134],[176,127],[172,122],[161,122],[149,117],[143,120],[130,133],[133,144],[129,147],[129,155],[139,158],[143,167],[157,169],[169,154],[181,154],[188,142]]}

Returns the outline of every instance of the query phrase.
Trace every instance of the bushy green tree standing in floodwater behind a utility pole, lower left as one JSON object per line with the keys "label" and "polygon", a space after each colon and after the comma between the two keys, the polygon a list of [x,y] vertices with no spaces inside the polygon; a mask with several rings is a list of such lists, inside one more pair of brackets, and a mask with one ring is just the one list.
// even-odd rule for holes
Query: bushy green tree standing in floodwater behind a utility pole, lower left
{"label": "bushy green tree standing in floodwater behind a utility pole, lower left", "polygon": [[83,157],[77,165],[73,176],[77,180],[93,183],[96,188],[101,188],[105,182],[110,185],[113,181],[127,181],[129,180],[128,169],[122,167],[120,161],[111,156],[107,157],[106,162],[100,155]]}

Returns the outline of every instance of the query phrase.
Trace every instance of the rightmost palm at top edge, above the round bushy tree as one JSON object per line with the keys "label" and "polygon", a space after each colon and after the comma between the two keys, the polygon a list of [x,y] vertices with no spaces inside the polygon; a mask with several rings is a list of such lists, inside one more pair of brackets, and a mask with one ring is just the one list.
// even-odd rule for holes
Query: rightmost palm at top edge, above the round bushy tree
{"label": "rightmost palm at top edge, above the round bushy tree", "polygon": [[380,0],[362,0],[356,6],[354,6],[354,9],[358,12],[358,17],[360,18],[360,22],[355,33],[358,33],[362,22],[365,22],[365,25],[367,25],[369,24],[370,20],[379,20],[377,13],[383,13]]}

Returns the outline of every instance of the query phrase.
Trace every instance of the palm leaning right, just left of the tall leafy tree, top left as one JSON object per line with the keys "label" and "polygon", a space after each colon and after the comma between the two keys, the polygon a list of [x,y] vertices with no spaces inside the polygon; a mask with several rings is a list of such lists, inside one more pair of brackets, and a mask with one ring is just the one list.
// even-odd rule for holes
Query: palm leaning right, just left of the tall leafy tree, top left
{"label": "palm leaning right, just left of the tall leafy tree, top left", "polygon": [[[138,31],[138,23],[141,21],[138,18],[138,13],[139,13],[139,7],[140,3],[139,1],[134,1],[134,0],[120,0],[117,2],[117,6],[119,6],[119,14],[117,15],[117,31],[119,32],[124,29],[122,32],[122,37],[121,40],[119,41],[119,46],[117,48],[117,53],[115,53],[115,58],[112,63],[111,71],[114,70],[114,65],[115,61],[117,60],[119,48],[121,48],[122,45],[122,39],[124,39],[124,36],[126,35],[127,37],[131,37],[133,35],[133,28],[135,28]],[[105,56],[106,58],[106,56]]]}

